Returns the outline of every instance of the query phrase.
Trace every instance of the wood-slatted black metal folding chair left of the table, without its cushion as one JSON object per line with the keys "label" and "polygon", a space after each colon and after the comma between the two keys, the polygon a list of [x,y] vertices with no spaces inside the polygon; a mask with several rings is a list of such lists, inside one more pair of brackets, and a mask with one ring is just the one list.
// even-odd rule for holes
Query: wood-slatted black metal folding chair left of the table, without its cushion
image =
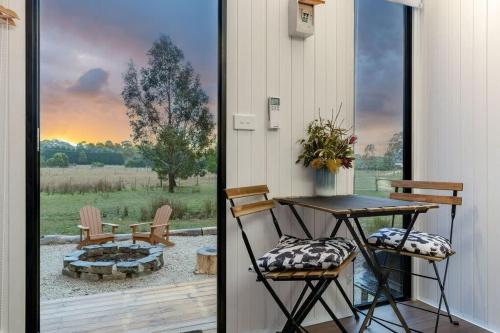
{"label": "wood-slatted black metal folding chair left of the table, without its cushion", "polygon": [[[226,197],[231,203],[231,212],[238,223],[238,227],[241,231],[241,235],[243,241],[245,243],[245,247],[248,251],[248,255],[250,256],[250,260],[252,263],[253,271],[257,274],[257,281],[264,284],[264,287],[271,294],[276,304],[283,312],[285,317],[287,318],[287,322],[282,329],[282,333],[292,333],[292,332],[308,332],[303,326],[302,322],[308,315],[308,313],[313,309],[314,305],[317,302],[320,302],[325,310],[328,312],[332,320],[338,326],[338,328],[342,332],[347,332],[342,323],[339,321],[335,313],[328,306],[326,301],[323,299],[322,294],[326,291],[328,286],[334,282],[337,288],[339,289],[342,297],[346,301],[347,305],[351,309],[353,315],[356,319],[358,319],[358,314],[354,309],[351,301],[349,300],[346,292],[342,288],[340,282],[338,281],[338,276],[340,272],[342,272],[348,265],[354,261],[356,258],[356,252],[354,251],[351,255],[349,255],[339,266],[331,269],[323,269],[323,270],[307,270],[307,269],[294,269],[294,270],[285,270],[285,271],[267,271],[263,272],[258,266],[257,259],[253,253],[252,247],[250,245],[250,241],[245,233],[243,228],[243,224],[241,218],[243,216],[247,216],[250,214],[256,214],[260,212],[269,212],[272,217],[272,221],[278,236],[281,238],[283,233],[280,229],[278,220],[273,212],[274,201],[269,200],[267,194],[269,193],[269,189],[267,185],[258,185],[258,186],[249,186],[249,187],[240,187],[240,188],[231,188],[225,190]],[[241,205],[236,205],[234,200],[245,198],[245,197],[255,197],[255,196],[263,196],[264,200],[256,201],[252,203],[245,203]],[[309,235],[306,232],[305,226],[302,226],[306,235]],[[310,239],[310,237],[308,236]],[[281,281],[303,281],[304,287],[302,292],[300,293],[297,302],[293,306],[292,310],[289,311],[285,306],[284,302],[279,298],[269,280],[281,282]],[[316,282],[316,284],[314,283]],[[306,293],[308,290],[311,290],[307,297]]]}

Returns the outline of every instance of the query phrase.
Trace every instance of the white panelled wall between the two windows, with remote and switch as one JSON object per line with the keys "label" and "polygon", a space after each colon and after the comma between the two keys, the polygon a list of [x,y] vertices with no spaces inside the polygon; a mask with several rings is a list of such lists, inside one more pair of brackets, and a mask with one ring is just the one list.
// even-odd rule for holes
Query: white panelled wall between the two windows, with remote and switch
{"label": "white panelled wall between the two windows, with remote and switch", "polygon": [[[227,1],[227,185],[268,184],[271,196],[313,193],[310,170],[295,164],[296,141],[306,124],[329,116],[343,104],[346,126],[353,123],[354,1],[327,1],[316,7],[316,32],[305,40],[288,36],[288,0]],[[267,97],[281,98],[281,126],[267,129]],[[233,114],[256,116],[255,131],[234,131]],[[342,172],[338,192],[353,191],[353,175]],[[278,208],[288,233],[302,235],[288,210]],[[331,231],[331,218],[300,210],[316,235]],[[248,218],[245,227],[256,253],[277,242],[272,224]],[[290,222],[292,221],[292,222]],[[250,261],[228,211],[227,219],[227,332],[272,332],[283,316],[264,287],[248,272]],[[345,230],[342,231],[345,233]],[[352,293],[352,270],[342,279]],[[287,304],[297,296],[297,284],[273,284]],[[326,296],[339,314],[346,306],[332,287]],[[328,320],[316,308],[308,322]]]}

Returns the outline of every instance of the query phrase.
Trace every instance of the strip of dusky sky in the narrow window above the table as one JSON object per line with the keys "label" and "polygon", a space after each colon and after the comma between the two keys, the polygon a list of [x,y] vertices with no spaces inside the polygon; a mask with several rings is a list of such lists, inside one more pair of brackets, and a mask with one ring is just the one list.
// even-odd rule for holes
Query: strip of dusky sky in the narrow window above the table
{"label": "strip of dusky sky in the narrow window above the table", "polygon": [[356,8],[356,148],[362,153],[371,143],[383,155],[403,128],[404,7],[356,0]]}

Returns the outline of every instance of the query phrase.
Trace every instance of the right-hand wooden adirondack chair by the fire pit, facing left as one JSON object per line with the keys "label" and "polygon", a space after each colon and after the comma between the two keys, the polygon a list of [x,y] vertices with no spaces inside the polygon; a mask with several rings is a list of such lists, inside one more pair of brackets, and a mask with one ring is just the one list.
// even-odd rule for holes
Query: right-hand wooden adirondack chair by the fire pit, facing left
{"label": "right-hand wooden adirondack chair by the fire pit, facing left", "polygon": [[[166,246],[174,246],[175,244],[169,240],[170,224],[168,221],[170,214],[172,214],[172,208],[165,205],[158,208],[153,222],[131,224],[130,228],[132,228],[132,241],[134,244],[136,241],[143,241],[153,245],[161,243]],[[138,232],[137,227],[141,225],[149,225],[150,231]]]}

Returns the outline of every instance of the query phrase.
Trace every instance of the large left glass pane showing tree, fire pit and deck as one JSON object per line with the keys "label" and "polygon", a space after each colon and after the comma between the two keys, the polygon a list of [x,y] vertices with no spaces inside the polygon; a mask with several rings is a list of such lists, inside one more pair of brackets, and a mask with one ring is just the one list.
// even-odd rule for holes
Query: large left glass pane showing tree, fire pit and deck
{"label": "large left glass pane showing tree, fire pit and deck", "polygon": [[216,330],[218,0],[40,6],[41,331]]}

